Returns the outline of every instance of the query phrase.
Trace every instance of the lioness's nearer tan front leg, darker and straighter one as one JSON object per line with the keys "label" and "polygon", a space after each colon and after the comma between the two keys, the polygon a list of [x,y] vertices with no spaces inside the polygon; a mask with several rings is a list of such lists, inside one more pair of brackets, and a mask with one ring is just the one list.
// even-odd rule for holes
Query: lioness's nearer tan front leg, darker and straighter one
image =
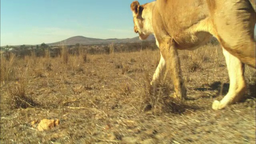
{"label": "lioness's nearer tan front leg, darker and straighter one", "polygon": [[161,54],[166,62],[166,74],[172,74],[174,82],[175,97],[180,99],[186,98],[186,88],[182,78],[180,68],[180,58],[178,57],[178,50],[175,47],[175,42],[172,38],[164,38],[159,43]]}

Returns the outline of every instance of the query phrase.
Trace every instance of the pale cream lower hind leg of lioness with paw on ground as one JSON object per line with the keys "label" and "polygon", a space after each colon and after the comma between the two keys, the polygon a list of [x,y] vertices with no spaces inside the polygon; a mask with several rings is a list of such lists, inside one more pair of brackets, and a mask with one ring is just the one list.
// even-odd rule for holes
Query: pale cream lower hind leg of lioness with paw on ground
{"label": "pale cream lower hind leg of lioness with paw on ground", "polygon": [[246,82],[244,80],[244,64],[235,56],[222,48],[228,67],[230,86],[228,94],[221,100],[215,100],[212,104],[214,110],[225,108],[228,104],[239,102],[246,91]]}

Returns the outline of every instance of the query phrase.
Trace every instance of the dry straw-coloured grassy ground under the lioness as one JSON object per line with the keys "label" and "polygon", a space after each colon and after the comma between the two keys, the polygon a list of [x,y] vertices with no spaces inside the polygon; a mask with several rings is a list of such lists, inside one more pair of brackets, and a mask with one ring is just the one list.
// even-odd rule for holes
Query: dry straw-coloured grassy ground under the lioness
{"label": "dry straw-coloured grassy ground under the lioness", "polygon": [[[188,100],[168,79],[148,86],[158,50],[24,59],[1,57],[1,144],[255,144],[255,70],[242,102],[212,110],[228,92],[219,46],[179,51]],[[151,108],[150,108],[151,106]],[[59,119],[38,131],[33,120]]]}

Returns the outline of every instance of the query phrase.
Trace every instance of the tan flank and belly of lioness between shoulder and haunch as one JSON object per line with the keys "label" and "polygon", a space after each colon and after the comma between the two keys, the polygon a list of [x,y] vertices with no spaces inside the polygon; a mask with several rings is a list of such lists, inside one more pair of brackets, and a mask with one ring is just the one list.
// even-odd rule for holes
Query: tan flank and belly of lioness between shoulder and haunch
{"label": "tan flank and belly of lioness between shoulder and haunch", "polygon": [[192,50],[211,38],[206,0],[159,0],[157,8],[164,30],[180,50]]}

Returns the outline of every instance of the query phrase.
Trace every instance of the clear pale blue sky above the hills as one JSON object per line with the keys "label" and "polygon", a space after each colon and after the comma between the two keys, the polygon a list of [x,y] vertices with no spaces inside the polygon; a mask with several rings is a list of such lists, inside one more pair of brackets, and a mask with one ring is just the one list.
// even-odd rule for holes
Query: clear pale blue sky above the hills
{"label": "clear pale blue sky above the hills", "polygon": [[[132,38],[133,0],[0,0],[0,45]],[[140,4],[154,0],[139,0]]]}

